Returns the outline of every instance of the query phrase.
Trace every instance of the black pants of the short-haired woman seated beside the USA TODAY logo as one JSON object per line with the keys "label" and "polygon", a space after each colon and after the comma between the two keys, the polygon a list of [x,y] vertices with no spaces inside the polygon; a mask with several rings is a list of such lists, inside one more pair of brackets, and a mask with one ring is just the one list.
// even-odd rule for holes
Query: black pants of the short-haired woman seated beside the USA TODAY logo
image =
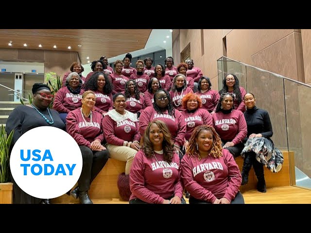
{"label": "black pants of the short-haired woman seated beside the USA TODAY logo", "polygon": [[79,147],[82,153],[83,166],[78,186],[79,191],[84,192],[89,190],[90,184],[107,163],[109,152],[108,150],[92,151],[86,146]]}

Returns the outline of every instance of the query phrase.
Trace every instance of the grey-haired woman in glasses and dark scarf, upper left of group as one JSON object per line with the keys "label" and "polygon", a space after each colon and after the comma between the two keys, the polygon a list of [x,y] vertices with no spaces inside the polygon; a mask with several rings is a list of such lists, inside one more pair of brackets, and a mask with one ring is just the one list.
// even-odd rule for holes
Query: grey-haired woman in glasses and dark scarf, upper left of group
{"label": "grey-haired woman in glasses and dark scarf, upper left of group", "polygon": [[81,99],[84,90],[81,89],[82,80],[78,73],[71,72],[66,78],[66,86],[60,88],[53,102],[53,109],[59,113],[60,118],[66,124],[66,117],[72,110],[81,107]]}

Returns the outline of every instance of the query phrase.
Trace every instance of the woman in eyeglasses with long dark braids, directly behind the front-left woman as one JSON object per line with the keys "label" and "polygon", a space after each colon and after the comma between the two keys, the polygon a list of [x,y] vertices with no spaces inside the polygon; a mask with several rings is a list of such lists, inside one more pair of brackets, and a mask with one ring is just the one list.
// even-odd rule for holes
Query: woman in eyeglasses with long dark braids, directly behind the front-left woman
{"label": "woman in eyeglasses with long dark braids, directly behind the front-left woman", "polygon": [[168,91],[158,89],[155,92],[153,106],[147,107],[139,117],[139,132],[141,134],[146,130],[149,122],[153,120],[162,120],[169,128],[172,134],[174,148],[178,155],[180,147],[184,145],[186,135],[186,122],[179,111],[175,111]]}

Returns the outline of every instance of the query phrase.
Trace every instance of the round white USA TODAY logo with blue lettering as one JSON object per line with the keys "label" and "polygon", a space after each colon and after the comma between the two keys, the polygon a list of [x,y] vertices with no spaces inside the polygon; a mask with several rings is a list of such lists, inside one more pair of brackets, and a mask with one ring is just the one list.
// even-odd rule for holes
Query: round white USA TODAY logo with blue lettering
{"label": "round white USA TODAY logo with blue lettering", "polygon": [[10,157],[12,176],[27,194],[52,199],[67,193],[82,171],[82,154],[65,131],[42,126],[24,133]]}

